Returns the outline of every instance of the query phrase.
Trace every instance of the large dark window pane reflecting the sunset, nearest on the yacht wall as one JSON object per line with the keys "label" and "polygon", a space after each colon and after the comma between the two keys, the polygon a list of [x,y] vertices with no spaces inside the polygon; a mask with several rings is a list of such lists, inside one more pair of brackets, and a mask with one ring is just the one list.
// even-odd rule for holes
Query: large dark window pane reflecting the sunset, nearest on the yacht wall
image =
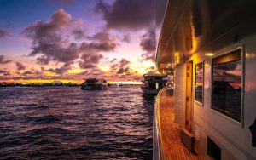
{"label": "large dark window pane reflecting the sunset, nearest on the yacht wall", "polygon": [[212,60],[212,109],[241,122],[241,49]]}

